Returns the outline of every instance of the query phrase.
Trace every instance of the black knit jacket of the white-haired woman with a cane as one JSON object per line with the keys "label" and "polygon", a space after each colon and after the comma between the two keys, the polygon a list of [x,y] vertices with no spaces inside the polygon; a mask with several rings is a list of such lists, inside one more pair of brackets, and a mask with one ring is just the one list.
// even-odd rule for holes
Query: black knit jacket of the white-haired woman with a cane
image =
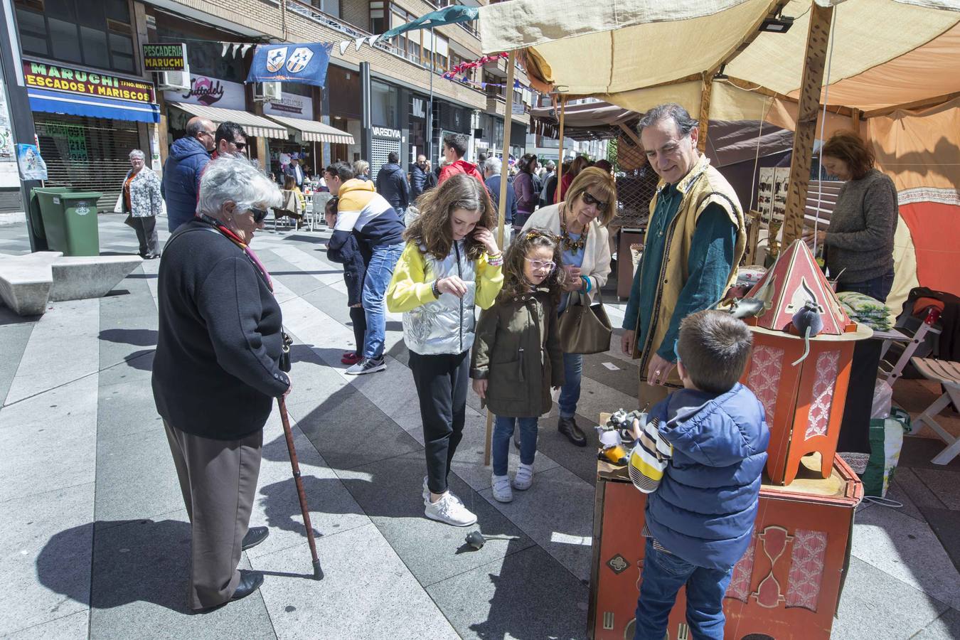
{"label": "black knit jacket of the white-haired woman with a cane", "polygon": [[262,429],[290,381],[277,366],[280,307],[250,258],[204,222],[181,225],[160,259],[157,307],[157,413],[209,439]]}

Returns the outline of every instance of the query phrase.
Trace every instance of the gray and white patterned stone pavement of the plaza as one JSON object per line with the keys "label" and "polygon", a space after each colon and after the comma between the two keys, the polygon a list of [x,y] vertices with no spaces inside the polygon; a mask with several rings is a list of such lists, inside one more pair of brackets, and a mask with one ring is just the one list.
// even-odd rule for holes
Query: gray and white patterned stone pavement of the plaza
{"label": "gray and white patterned stone pavement of the plaza", "polygon": [[[121,220],[100,217],[105,252],[135,252]],[[471,394],[451,482],[489,542],[464,553],[465,531],[422,517],[423,439],[399,317],[388,317],[386,373],[351,378],[340,364],[352,330],[327,236],[267,231],[253,245],[296,340],[288,408],[324,581],[303,578],[309,552],[275,412],[251,521],[271,535],[242,560],[267,580],[212,613],[185,609],[189,526],[150,390],[159,265],[145,262],[110,295],[51,304],[39,320],[0,308],[0,635],[587,637],[591,449],[559,436],[554,408],[540,422],[534,487],[501,505]],[[27,250],[24,225],[0,227],[0,252]],[[608,307],[618,324],[622,305]],[[584,375],[582,424],[630,405],[636,365],[616,350],[588,356]],[[907,439],[890,492],[902,508],[859,507],[833,637],[960,637],[960,461],[930,465],[937,450]]]}

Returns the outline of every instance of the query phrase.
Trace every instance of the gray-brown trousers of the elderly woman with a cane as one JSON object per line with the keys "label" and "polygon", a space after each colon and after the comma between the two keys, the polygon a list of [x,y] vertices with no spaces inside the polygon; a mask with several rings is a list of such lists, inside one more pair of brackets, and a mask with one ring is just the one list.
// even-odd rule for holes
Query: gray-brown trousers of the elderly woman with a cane
{"label": "gray-brown trousers of the elderly woman with a cane", "polygon": [[192,609],[226,603],[240,581],[243,537],[260,474],[263,430],[239,440],[214,440],[184,433],[166,420],[163,427],[190,517]]}

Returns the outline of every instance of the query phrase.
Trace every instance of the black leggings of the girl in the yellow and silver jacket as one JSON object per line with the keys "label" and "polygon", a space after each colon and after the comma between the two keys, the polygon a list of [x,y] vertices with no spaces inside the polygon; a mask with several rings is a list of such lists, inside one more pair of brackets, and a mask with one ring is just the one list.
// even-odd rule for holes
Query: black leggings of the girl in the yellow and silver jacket
{"label": "black leggings of the girl in the yellow and silver jacket", "polygon": [[410,370],[420,397],[427,487],[433,493],[446,491],[453,454],[464,438],[469,355],[469,350],[428,356],[410,352]]}

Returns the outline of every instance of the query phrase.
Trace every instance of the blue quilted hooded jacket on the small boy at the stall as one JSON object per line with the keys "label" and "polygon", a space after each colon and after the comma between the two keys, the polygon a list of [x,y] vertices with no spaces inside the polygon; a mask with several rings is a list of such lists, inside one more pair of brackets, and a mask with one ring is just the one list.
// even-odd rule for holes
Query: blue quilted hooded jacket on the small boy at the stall
{"label": "blue quilted hooded jacket on the small boy at the stall", "polygon": [[770,430],[753,391],[684,389],[650,412],[673,458],[647,499],[648,532],[690,564],[726,571],[754,530]]}

